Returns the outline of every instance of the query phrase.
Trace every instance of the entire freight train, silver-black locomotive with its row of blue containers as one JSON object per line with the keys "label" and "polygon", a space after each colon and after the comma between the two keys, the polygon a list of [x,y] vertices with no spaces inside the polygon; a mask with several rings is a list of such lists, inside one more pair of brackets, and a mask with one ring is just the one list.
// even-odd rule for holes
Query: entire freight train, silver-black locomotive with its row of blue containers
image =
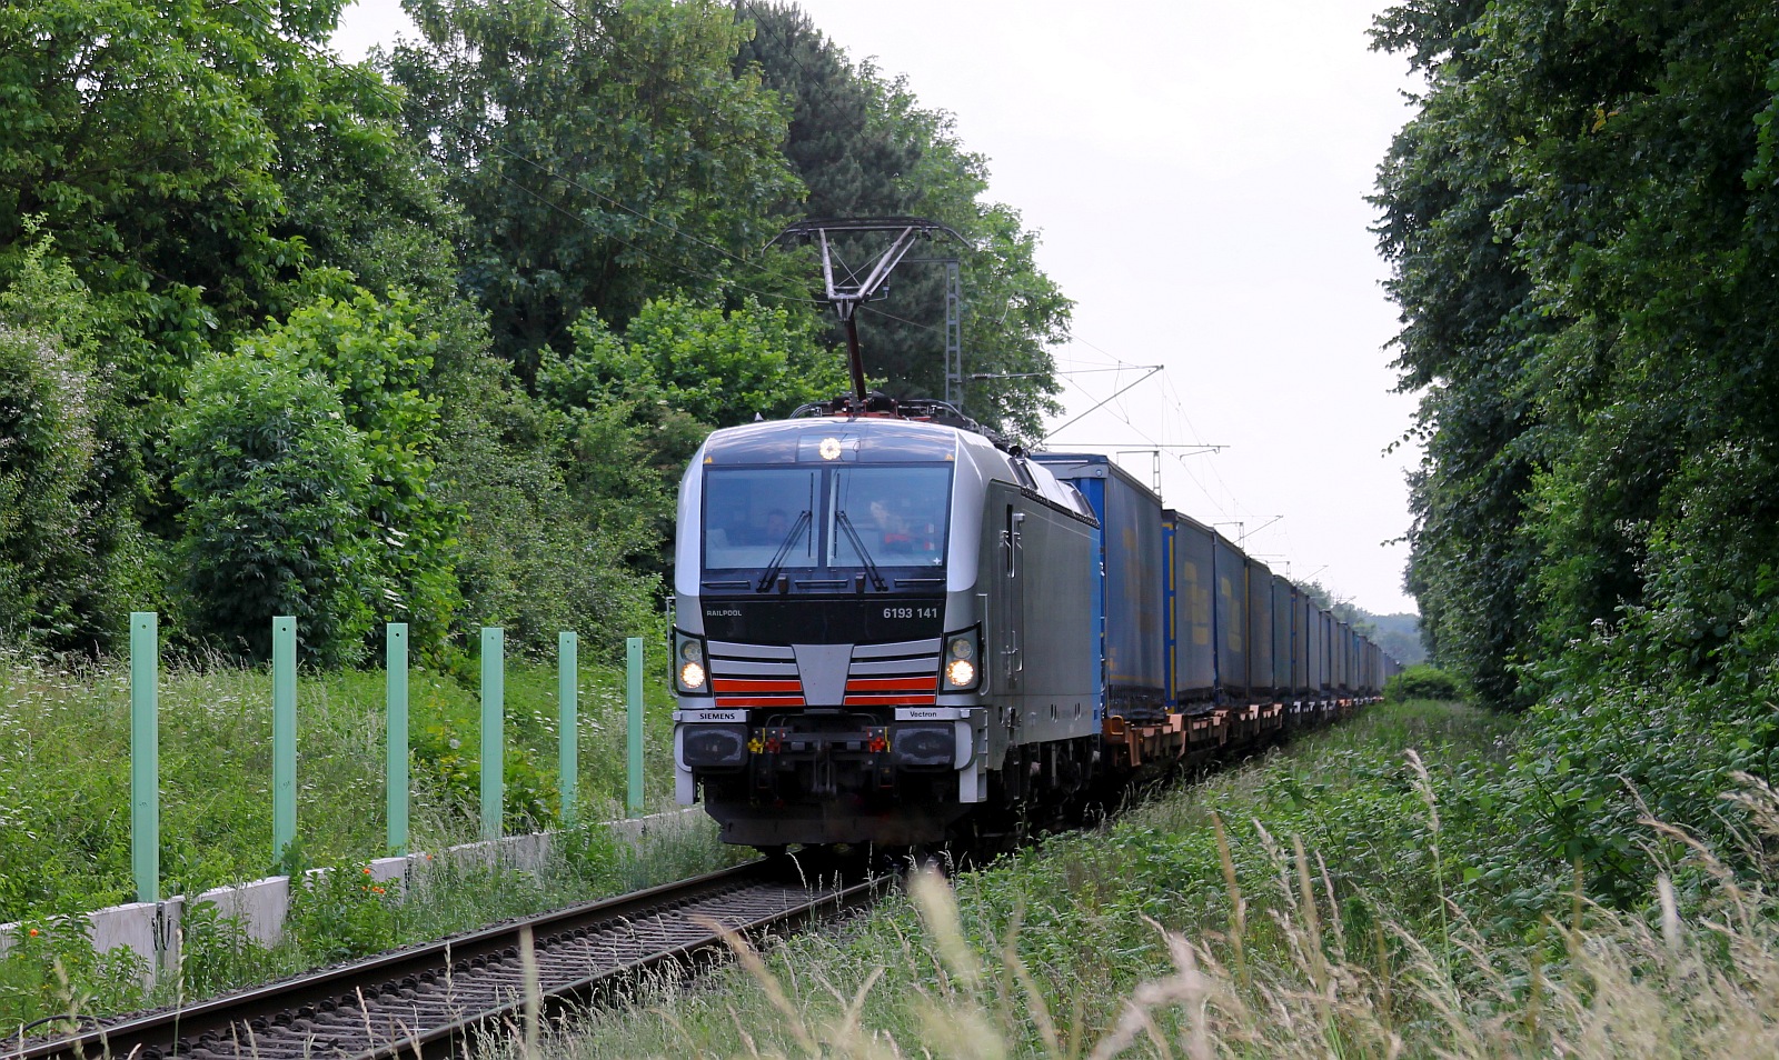
{"label": "entire freight train, silver-black locomotive with its row of blue containers", "polygon": [[1107,457],[943,402],[713,432],[674,557],[676,795],[763,850],[1062,822],[1400,669]]}

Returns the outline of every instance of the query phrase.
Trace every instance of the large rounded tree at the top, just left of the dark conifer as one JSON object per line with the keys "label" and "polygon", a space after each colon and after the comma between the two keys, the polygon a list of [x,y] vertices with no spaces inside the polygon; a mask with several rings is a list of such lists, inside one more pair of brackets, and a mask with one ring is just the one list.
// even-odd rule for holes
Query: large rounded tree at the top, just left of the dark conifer
{"label": "large rounded tree at the top, just left of the dark conifer", "polygon": [[623,325],[658,292],[785,293],[756,254],[797,194],[785,114],[729,59],[708,0],[409,0],[423,46],[390,76],[463,206],[463,285],[527,381],[592,309]]}

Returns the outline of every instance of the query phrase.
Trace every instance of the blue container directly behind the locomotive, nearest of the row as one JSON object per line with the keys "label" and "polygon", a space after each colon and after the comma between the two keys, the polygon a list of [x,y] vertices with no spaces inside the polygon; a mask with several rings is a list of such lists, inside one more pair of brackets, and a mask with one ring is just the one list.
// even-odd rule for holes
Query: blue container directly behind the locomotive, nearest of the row
{"label": "blue container directly behind the locomotive, nearest of the row", "polygon": [[1034,454],[1099,518],[1107,713],[1156,720],[1167,710],[1162,498],[1099,454]]}

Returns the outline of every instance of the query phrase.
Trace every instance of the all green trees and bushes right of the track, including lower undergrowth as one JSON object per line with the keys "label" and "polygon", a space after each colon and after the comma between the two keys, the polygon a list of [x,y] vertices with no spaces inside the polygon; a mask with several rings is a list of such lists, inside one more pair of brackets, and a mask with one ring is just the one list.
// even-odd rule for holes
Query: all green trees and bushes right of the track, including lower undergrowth
{"label": "all green trees and bushes right of the track, including lower undergrowth", "polygon": [[1379,21],[1430,78],[1379,196],[1423,395],[1409,582],[1436,660],[1530,706],[1491,870],[1526,903],[1569,863],[1640,900],[1642,818],[1727,847],[1719,793],[1779,765],[1775,41],[1740,0]]}

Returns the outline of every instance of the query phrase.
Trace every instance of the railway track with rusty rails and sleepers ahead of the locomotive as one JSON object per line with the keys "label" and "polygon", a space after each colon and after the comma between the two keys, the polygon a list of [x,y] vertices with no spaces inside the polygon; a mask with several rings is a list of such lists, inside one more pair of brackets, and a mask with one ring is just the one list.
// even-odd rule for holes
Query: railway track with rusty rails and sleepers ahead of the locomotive
{"label": "railway track with rusty rails and sleepers ahead of the locomotive", "polygon": [[[806,886],[756,861],[635,895],[398,950],[269,987],[59,1039],[0,1046],[5,1060],[382,1060],[461,1053],[665,964],[715,960],[722,928],[760,937],[870,903],[886,880]],[[525,939],[532,939],[527,943]],[[525,952],[530,952],[530,960]]]}

